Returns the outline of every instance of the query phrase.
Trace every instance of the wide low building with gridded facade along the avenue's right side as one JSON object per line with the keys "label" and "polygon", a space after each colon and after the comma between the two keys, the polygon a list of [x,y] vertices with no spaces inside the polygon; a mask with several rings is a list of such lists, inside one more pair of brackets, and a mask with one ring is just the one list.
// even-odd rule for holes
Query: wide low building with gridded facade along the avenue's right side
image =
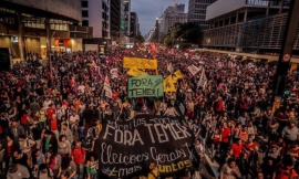
{"label": "wide low building with gridded facade along the avenue's right side", "polygon": [[[283,3],[281,3],[283,2]],[[207,8],[202,46],[244,53],[279,54],[290,0],[218,0]],[[299,27],[293,53],[299,53]]]}

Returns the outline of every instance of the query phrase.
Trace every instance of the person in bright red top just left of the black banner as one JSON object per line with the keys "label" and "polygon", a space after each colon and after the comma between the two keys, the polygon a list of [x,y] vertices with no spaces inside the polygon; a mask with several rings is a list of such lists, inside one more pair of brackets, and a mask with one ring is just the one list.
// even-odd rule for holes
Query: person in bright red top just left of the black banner
{"label": "person in bright red top just left of the black banner", "polygon": [[84,161],[85,161],[86,151],[82,147],[81,141],[75,143],[75,147],[72,150],[71,156],[72,156],[74,164],[76,165],[76,168],[78,168],[76,171],[79,171],[79,173],[78,173],[79,179],[83,179]]}

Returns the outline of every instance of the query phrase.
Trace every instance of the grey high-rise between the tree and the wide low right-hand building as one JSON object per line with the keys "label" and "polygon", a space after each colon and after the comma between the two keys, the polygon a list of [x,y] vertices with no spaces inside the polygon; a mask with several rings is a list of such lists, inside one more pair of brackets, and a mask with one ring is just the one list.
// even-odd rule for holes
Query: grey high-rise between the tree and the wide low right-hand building
{"label": "grey high-rise between the tree and the wide low right-hand building", "polygon": [[[217,0],[189,0],[188,21],[197,22],[203,28],[207,27],[206,10],[207,7]],[[241,1],[241,0],[240,0]]]}

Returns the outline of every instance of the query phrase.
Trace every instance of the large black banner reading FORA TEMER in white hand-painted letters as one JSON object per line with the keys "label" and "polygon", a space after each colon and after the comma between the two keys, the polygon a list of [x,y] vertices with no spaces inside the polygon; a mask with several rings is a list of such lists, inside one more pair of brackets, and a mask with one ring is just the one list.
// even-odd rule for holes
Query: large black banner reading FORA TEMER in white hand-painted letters
{"label": "large black banner reading FORA TEMER in white hand-painted letters", "polygon": [[138,115],[130,122],[109,119],[95,143],[101,172],[127,178],[155,161],[161,176],[192,167],[193,133],[178,118]]}

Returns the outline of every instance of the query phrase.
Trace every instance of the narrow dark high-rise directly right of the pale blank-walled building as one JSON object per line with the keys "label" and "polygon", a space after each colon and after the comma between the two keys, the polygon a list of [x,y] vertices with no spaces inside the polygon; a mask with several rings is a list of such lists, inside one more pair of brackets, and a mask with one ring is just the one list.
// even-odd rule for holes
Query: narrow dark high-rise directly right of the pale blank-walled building
{"label": "narrow dark high-rise directly right of the pale blank-walled building", "polygon": [[111,1],[111,40],[118,44],[123,41],[124,36],[124,1]]}

